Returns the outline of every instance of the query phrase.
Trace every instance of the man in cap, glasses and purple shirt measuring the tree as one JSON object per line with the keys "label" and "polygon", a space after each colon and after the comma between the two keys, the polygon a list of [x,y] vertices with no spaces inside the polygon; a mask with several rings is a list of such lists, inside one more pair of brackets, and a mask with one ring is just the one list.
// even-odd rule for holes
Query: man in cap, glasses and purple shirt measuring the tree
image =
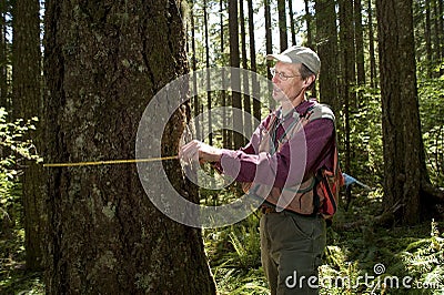
{"label": "man in cap, glasses and purple shirt measuring the tree", "polygon": [[[316,80],[321,61],[304,47],[291,47],[280,54],[269,54],[268,59],[276,61],[271,69],[273,99],[281,106],[262,121],[250,143],[231,151],[192,141],[180,155],[213,162],[236,181],[284,191],[286,185],[300,184],[321,169],[333,170],[334,122],[331,118],[305,121],[300,126],[303,141],[293,136],[291,129],[317,105],[305,93]],[[264,148],[265,133],[270,134],[272,148]],[[317,266],[325,247],[324,218],[319,211],[300,214],[286,206],[280,210],[276,202],[263,197],[266,201],[260,223],[261,258],[271,294],[317,294]]]}

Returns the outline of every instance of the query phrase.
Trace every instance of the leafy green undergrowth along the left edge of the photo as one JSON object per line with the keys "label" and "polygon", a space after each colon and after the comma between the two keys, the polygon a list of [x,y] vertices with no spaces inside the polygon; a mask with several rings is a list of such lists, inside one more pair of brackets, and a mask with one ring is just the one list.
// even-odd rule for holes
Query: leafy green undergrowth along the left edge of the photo
{"label": "leafy green undergrowth along the left edge of the photo", "polygon": [[24,268],[24,230],[21,224],[20,164],[23,159],[41,161],[31,140],[32,119],[7,122],[0,108],[0,294],[44,294],[40,273]]}

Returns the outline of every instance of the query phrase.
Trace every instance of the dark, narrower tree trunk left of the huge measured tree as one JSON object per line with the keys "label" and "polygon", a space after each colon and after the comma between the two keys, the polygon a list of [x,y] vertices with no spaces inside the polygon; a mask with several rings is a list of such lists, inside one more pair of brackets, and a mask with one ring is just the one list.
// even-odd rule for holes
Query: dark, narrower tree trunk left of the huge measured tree
{"label": "dark, narrower tree trunk left of the huge measured tree", "polygon": [[[30,120],[41,118],[41,52],[40,52],[40,2],[37,0],[17,1],[13,9],[13,114]],[[32,131],[32,140],[38,152],[41,146],[40,122]],[[27,161],[22,177],[24,210],[24,246],[27,267],[41,268],[44,232],[44,186],[41,179],[42,166]]]}

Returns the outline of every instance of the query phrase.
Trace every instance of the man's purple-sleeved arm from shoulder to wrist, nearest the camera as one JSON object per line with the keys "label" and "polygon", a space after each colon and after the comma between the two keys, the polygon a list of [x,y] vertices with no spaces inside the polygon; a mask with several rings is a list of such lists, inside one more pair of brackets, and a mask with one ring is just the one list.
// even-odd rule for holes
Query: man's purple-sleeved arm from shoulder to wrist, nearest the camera
{"label": "man's purple-sleeved arm from shoulder to wrist, nearest the camera", "polygon": [[285,182],[297,184],[323,165],[330,167],[333,130],[329,119],[312,121],[304,128],[304,136],[294,136],[273,155],[222,150],[221,166],[225,174],[240,182],[254,181],[278,187],[283,187]]}

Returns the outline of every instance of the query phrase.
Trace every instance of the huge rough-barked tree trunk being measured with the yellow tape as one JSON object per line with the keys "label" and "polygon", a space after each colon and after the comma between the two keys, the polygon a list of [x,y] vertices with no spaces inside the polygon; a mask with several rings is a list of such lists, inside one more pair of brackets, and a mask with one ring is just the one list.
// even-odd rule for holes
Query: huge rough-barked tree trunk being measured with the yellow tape
{"label": "huge rough-barked tree trunk being measured with the yellow tape", "polygon": [[[134,159],[144,108],[188,70],[178,6],[47,1],[48,161]],[[178,151],[186,115],[178,111],[165,129],[163,152]],[[184,195],[190,189],[180,164],[165,169]],[[48,174],[48,294],[215,293],[201,232],[158,211],[134,165],[56,167]]]}

